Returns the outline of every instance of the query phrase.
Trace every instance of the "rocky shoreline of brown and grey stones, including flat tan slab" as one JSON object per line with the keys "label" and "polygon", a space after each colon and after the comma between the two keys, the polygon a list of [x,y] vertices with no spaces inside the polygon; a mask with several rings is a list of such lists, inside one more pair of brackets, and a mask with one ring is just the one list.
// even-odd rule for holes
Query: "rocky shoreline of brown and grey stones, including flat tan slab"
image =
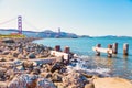
{"label": "rocky shoreline of brown and grey stones, including flat tan slab", "polygon": [[99,77],[75,69],[70,59],[51,55],[54,48],[32,43],[36,38],[0,40],[0,88],[132,88],[130,80]]}

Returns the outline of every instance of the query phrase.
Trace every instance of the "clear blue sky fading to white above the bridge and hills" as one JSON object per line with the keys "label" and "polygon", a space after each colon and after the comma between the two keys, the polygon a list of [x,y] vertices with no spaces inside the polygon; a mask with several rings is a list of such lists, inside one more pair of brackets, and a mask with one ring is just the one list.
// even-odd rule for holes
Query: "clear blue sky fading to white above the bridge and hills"
{"label": "clear blue sky fading to white above the bridge and hills", "polygon": [[18,15],[23,30],[132,36],[132,0],[0,0],[0,29],[16,29],[2,22]]}

